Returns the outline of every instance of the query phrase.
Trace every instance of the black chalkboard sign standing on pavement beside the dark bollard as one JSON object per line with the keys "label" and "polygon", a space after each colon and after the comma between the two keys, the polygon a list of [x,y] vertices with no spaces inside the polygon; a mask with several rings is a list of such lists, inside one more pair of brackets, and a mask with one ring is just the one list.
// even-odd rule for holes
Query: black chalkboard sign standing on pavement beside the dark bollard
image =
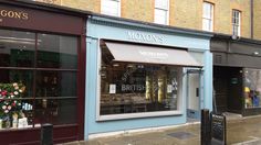
{"label": "black chalkboard sign standing on pavement beside the dark bollard", "polygon": [[210,114],[211,121],[211,143],[217,145],[226,145],[226,116],[219,114]]}

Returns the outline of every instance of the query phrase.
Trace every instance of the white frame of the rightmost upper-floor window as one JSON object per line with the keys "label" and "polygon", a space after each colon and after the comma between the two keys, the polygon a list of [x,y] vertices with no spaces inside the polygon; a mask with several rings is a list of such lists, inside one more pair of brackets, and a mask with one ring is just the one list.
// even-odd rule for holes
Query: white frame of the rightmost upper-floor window
{"label": "white frame of the rightmost upper-floor window", "polygon": [[[238,14],[238,18],[236,18],[236,13]],[[234,23],[237,22],[236,19],[238,19],[238,23]],[[232,35],[241,36],[241,11],[240,10],[232,9],[231,24],[232,24]],[[237,34],[234,32],[236,26],[237,26],[237,32],[238,32]]]}

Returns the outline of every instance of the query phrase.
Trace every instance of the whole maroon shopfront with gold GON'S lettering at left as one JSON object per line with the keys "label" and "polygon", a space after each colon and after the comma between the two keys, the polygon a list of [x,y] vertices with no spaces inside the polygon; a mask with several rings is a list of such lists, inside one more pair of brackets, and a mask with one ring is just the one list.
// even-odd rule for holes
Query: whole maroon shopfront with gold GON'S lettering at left
{"label": "whole maroon shopfront with gold GON'S lettering at left", "polygon": [[[34,2],[0,2],[0,144],[83,140],[85,22]],[[80,87],[81,86],[81,87]]]}

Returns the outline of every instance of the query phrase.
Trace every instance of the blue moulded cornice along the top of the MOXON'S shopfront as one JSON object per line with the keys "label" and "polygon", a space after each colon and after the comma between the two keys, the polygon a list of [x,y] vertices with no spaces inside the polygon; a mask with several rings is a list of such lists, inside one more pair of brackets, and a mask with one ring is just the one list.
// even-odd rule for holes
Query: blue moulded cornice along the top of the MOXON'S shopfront
{"label": "blue moulded cornice along the top of the MOXON'S shopfront", "polygon": [[136,30],[140,30],[140,29],[150,30],[153,32],[166,33],[170,35],[179,34],[179,35],[188,35],[190,37],[202,37],[202,38],[208,38],[208,40],[210,40],[213,36],[213,34],[209,32],[174,27],[169,25],[160,25],[160,24],[155,24],[155,23],[140,22],[140,21],[115,18],[115,16],[103,15],[103,14],[92,14],[88,16],[87,21],[90,21],[93,24],[121,26],[121,27],[126,27],[126,29],[132,27]]}

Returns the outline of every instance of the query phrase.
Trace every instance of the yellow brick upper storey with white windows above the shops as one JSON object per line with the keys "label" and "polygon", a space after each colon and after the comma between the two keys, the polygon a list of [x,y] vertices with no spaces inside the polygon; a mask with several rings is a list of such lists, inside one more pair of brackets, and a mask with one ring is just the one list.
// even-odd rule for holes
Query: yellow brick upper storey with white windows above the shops
{"label": "yellow brick upper storey with white windows above the shops", "polygon": [[[260,40],[261,27],[259,0],[36,0],[191,30]],[[210,5],[209,5],[210,4]],[[111,13],[106,11],[115,11]],[[239,14],[233,14],[234,12]],[[233,21],[238,15],[239,21]],[[251,20],[253,19],[253,20]],[[209,29],[206,25],[211,25]],[[234,25],[237,29],[233,29]],[[211,29],[212,27],[212,29]],[[251,29],[252,27],[252,29]],[[254,33],[254,34],[252,34]]]}

